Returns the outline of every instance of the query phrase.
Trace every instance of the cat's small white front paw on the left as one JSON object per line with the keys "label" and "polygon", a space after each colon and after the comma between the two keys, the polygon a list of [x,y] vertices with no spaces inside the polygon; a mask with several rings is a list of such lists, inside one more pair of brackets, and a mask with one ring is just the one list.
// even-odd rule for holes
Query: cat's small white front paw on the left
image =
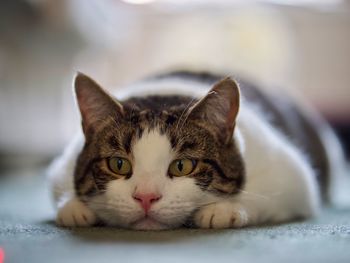
{"label": "cat's small white front paw on the left", "polygon": [[66,202],[57,212],[56,224],[59,226],[88,227],[95,223],[95,214],[77,198]]}

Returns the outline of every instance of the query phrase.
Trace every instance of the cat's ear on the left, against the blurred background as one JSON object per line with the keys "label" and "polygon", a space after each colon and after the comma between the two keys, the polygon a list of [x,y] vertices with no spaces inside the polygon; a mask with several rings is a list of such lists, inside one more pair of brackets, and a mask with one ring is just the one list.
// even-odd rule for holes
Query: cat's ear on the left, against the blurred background
{"label": "cat's ear on the left, against the blurred background", "polygon": [[85,134],[90,129],[94,130],[99,121],[123,114],[123,106],[83,73],[78,72],[75,76],[74,90]]}

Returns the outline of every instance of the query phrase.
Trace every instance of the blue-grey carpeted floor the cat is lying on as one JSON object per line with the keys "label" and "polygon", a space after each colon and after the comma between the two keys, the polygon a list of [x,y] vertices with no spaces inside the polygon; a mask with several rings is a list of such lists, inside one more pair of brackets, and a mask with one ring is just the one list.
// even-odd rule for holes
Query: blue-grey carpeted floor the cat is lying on
{"label": "blue-grey carpeted floor the cat is lying on", "polygon": [[41,170],[0,177],[5,262],[350,262],[350,210],[241,230],[60,229]]}

